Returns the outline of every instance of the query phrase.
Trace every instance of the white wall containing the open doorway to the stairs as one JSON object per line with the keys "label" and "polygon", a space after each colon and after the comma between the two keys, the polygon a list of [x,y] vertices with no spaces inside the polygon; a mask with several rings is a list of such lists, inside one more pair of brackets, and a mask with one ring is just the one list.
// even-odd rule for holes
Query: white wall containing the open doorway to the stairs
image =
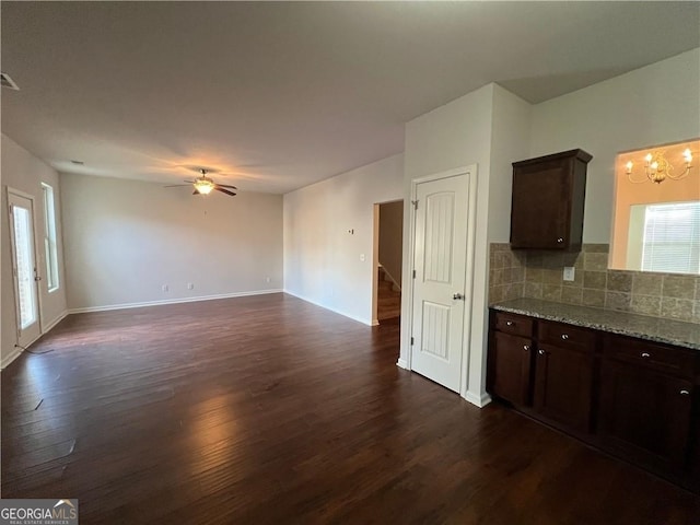
{"label": "white wall containing the open doorway to the stairs", "polygon": [[389,156],[284,196],[285,292],[372,324],[374,205],[402,197],[402,160]]}

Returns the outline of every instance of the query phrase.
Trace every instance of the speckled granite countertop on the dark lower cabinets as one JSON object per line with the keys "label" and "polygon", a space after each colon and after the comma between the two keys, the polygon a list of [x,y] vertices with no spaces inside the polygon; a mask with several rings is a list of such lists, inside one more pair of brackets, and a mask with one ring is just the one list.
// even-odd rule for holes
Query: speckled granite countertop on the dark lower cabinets
{"label": "speckled granite countertop on the dark lower cabinets", "polygon": [[596,330],[700,350],[700,325],[692,323],[574,304],[552,303],[540,299],[515,299],[492,304],[491,307],[500,312],[558,320]]}

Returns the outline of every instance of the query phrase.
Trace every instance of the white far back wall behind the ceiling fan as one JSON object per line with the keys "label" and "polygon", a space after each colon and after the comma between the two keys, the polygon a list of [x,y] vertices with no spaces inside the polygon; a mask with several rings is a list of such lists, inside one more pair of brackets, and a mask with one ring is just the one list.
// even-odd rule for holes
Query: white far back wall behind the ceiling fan
{"label": "white far back wall behind the ceiling fan", "polygon": [[61,187],[71,311],[282,288],[279,195],[194,196],[73,174]]}

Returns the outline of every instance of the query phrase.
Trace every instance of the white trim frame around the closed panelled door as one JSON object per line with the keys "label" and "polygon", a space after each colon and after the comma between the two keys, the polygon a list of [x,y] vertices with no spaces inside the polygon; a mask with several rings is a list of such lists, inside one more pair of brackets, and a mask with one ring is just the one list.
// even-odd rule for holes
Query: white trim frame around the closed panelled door
{"label": "white trim frame around the closed panelled door", "polygon": [[[464,398],[467,396],[468,378],[469,378],[469,343],[471,340],[471,307],[474,302],[474,253],[476,245],[476,221],[477,221],[477,165],[470,164],[464,167],[456,167],[454,170],[447,170],[446,172],[434,173],[432,175],[425,175],[417,177],[411,180],[411,206],[410,206],[410,221],[409,221],[409,275],[412,276],[416,269],[416,207],[412,203],[417,199],[418,185],[421,183],[429,183],[432,180],[439,180],[441,178],[456,177],[458,175],[468,175],[469,186],[469,210],[467,218],[467,255],[465,259],[465,307],[464,307],[464,334],[462,338],[462,371],[459,374],[459,395]],[[408,312],[404,312],[408,318],[408,340],[404,341],[407,349],[406,352],[406,370],[412,370],[412,349],[410,343],[411,334],[413,332],[413,280],[411,278],[411,285],[406,287],[406,294],[408,296],[407,304],[409,305]],[[404,364],[404,363],[401,363]]]}

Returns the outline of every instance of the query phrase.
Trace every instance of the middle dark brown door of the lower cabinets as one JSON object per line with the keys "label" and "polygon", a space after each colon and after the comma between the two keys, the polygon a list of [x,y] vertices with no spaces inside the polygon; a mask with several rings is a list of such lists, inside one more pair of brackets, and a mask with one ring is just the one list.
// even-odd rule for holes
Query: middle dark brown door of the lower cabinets
{"label": "middle dark brown door of the lower cabinets", "polygon": [[593,355],[539,345],[535,361],[535,410],[581,432],[591,428]]}

